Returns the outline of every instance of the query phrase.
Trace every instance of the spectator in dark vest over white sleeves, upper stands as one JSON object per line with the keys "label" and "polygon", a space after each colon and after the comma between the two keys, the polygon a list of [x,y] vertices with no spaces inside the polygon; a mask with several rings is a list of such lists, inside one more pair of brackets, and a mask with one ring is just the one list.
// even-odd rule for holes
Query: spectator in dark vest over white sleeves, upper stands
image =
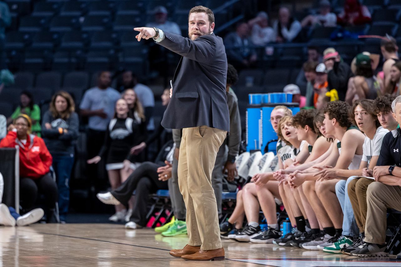
{"label": "spectator in dark vest over white sleeves, upper stands", "polygon": [[282,7],[278,12],[278,20],[273,24],[276,42],[292,42],[300,33],[301,23],[291,16],[288,8]]}

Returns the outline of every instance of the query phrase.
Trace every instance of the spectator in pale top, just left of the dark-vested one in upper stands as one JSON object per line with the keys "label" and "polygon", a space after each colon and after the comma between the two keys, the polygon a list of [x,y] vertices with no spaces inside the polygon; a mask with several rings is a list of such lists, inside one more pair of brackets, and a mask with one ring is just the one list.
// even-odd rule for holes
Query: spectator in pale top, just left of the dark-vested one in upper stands
{"label": "spectator in pale top, just left of the dark-vested one in upper stands", "polygon": [[251,41],[254,45],[263,47],[275,41],[275,33],[273,28],[269,27],[269,17],[266,12],[259,12],[256,18],[248,21],[248,26],[252,29]]}

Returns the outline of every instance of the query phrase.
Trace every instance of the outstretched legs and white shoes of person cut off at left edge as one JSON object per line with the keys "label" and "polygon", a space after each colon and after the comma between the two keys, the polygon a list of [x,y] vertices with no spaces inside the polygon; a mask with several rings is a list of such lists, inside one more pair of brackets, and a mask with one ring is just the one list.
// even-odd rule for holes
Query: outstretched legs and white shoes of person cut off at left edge
{"label": "outstretched legs and white shoes of person cut off at left edge", "polygon": [[0,173],[0,225],[4,226],[26,226],[36,223],[40,220],[45,212],[41,208],[35,208],[30,212],[27,212],[23,216],[18,214],[14,208],[7,207],[6,204],[2,204],[4,189],[3,176]]}

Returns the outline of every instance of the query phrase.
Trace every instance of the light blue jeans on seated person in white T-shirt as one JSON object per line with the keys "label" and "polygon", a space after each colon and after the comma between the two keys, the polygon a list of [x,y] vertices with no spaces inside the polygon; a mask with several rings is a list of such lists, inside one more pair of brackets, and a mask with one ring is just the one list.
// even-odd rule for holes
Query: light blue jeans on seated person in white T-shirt
{"label": "light blue jeans on seated person in white T-shirt", "polygon": [[352,205],[350,198],[348,197],[348,184],[355,177],[351,176],[347,180],[340,180],[336,184],[336,195],[338,201],[340,202],[342,213],[344,218],[342,220],[342,235],[348,235],[350,237],[359,237],[359,228],[356,224],[354,210],[352,210]]}

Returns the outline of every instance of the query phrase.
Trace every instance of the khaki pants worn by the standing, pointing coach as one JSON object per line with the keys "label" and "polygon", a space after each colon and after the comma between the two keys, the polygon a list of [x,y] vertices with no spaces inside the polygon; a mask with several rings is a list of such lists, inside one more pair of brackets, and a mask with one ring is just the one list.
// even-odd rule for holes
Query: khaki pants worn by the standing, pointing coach
{"label": "khaki pants worn by the standing, pointing coach", "polygon": [[227,131],[205,125],[182,129],[178,184],[186,206],[188,245],[202,250],[222,247],[211,177],[226,135]]}

